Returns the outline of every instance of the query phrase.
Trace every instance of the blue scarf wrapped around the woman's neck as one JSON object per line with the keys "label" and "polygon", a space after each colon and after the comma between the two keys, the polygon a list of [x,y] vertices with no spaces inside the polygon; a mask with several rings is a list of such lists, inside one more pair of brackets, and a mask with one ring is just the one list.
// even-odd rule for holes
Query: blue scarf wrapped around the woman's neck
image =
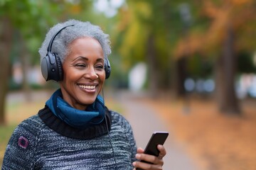
{"label": "blue scarf wrapped around the woman's neck", "polygon": [[105,118],[105,104],[100,95],[97,96],[94,103],[87,106],[85,111],[80,111],[64,101],[61,91],[58,89],[46,101],[46,106],[50,108],[50,111],[55,116],[75,128],[87,128],[91,125],[101,123]]}

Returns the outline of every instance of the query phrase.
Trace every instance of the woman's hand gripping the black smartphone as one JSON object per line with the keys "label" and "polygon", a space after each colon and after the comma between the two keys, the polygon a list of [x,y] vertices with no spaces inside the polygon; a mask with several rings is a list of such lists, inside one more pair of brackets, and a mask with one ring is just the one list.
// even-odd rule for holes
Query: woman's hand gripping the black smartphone
{"label": "woman's hand gripping the black smartphone", "polygon": [[136,159],[150,162],[151,164],[145,162],[133,162],[132,165],[136,168],[140,169],[148,169],[148,170],[161,170],[162,166],[164,165],[163,157],[166,155],[166,149],[163,145],[157,145],[157,149],[159,149],[159,156],[155,157],[150,154],[144,154],[144,149],[138,148],[137,154],[135,155]]}

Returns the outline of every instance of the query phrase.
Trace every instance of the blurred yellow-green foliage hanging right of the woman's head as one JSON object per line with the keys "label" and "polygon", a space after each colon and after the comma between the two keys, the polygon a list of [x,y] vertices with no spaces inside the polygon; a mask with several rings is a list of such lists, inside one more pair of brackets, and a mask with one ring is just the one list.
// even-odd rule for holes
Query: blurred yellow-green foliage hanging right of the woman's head
{"label": "blurred yellow-green foliage hanging right of the woman's head", "polygon": [[120,34],[120,54],[129,61],[132,60],[128,64],[130,66],[139,61],[146,61],[149,35],[153,35],[159,63],[167,67],[166,60],[171,55],[171,40],[176,38],[175,34],[171,34],[172,30],[175,32],[171,23],[177,21],[171,16],[174,13],[172,4],[169,1],[127,1],[127,4],[128,10],[124,15],[129,15],[129,19],[126,21],[127,27],[122,30],[124,34]]}

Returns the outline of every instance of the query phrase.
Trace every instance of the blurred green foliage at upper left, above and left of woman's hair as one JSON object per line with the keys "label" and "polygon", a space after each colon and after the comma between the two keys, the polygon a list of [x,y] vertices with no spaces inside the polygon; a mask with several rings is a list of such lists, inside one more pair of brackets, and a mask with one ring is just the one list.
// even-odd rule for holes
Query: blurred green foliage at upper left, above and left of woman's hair
{"label": "blurred green foliage at upper left, above and left of woman's hair", "polygon": [[[32,63],[38,63],[38,48],[43,42],[46,31],[53,24],[68,18],[82,18],[83,9],[89,6],[90,1],[72,4],[65,1],[1,1],[0,17],[7,17],[21,35],[28,53],[33,56]],[[85,10],[87,11],[87,10]],[[76,17],[75,17],[76,16]],[[90,15],[86,15],[90,16]]]}

